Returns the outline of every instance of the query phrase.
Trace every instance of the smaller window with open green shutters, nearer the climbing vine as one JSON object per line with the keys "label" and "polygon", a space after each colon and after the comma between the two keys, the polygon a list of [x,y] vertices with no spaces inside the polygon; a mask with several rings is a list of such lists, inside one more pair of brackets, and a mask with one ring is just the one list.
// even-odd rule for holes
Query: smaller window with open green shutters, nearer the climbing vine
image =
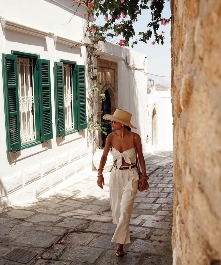
{"label": "smaller window with open green shutters, nearer the climbing vine", "polygon": [[55,62],[56,137],[86,128],[85,66]]}

